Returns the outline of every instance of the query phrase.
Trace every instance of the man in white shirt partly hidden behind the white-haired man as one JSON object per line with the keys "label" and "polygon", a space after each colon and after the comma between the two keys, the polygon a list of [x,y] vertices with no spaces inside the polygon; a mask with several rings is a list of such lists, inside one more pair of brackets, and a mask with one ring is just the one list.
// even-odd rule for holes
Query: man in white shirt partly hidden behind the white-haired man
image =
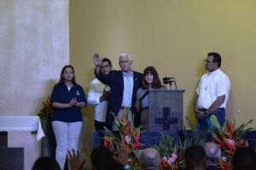
{"label": "man in white shirt partly hidden behind the white-haired man", "polygon": [[[103,58],[101,71],[103,74],[108,74],[112,69],[112,63],[109,59]],[[88,105],[95,105],[95,128],[96,130],[104,130],[106,124],[106,115],[108,110],[108,99],[110,88],[103,84],[97,78],[90,82],[87,102]]]}

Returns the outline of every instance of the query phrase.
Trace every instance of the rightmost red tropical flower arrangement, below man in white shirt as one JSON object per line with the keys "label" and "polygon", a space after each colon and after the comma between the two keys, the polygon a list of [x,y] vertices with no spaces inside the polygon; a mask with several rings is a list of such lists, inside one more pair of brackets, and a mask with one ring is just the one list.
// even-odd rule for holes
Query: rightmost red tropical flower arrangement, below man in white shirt
{"label": "rightmost red tropical flower arrangement, below man in white shirt", "polygon": [[222,170],[231,169],[232,156],[236,152],[236,148],[248,146],[247,140],[244,140],[243,137],[249,130],[253,129],[245,128],[249,123],[253,122],[253,119],[236,127],[236,120],[239,115],[240,111],[236,114],[233,122],[226,120],[223,129],[220,127],[216,116],[211,116],[211,122],[216,128],[208,130],[212,133],[213,141],[222,150],[222,158],[218,163]]}

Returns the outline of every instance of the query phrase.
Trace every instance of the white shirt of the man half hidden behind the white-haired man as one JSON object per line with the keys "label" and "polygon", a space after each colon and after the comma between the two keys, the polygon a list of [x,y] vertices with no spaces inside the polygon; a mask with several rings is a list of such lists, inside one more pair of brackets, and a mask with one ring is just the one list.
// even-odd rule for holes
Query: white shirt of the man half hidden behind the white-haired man
{"label": "white shirt of the man half hidden behind the white-haired man", "polygon": [[100,102],[104,89],[106,91],[110,90],[107,85],[103,84],[98,79],[94,79],[90,82],[87,102],[88,105],[95,105],[95,119],[98,122],[106,122],[108,101],[104,100]]}

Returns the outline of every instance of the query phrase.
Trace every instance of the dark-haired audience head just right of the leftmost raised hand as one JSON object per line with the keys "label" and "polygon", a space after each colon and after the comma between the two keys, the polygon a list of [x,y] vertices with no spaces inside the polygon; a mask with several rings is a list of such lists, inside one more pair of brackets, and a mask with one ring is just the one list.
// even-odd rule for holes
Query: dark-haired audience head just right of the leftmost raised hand
{"label": "dark-haired audience head just right of the leftmost raised hand", "polygon": [[113,152],[108,148],[99,146],[91,151],[90,159],[93,167],[99,170],[104,163],[113,160]]}

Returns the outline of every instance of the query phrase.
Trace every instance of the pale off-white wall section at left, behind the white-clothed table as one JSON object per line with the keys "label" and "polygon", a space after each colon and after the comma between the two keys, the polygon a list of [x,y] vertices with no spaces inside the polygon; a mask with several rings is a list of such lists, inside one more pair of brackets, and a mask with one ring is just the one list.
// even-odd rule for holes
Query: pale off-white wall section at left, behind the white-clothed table
{"label": "pale off-white wall section at left, behind the white-clothed table", "polygon": [[[34,116],[69,63],[68,1],[0,0],[0,115]],[[25,170],[41,155],[29,132],[9,133],[25,148]]]}

